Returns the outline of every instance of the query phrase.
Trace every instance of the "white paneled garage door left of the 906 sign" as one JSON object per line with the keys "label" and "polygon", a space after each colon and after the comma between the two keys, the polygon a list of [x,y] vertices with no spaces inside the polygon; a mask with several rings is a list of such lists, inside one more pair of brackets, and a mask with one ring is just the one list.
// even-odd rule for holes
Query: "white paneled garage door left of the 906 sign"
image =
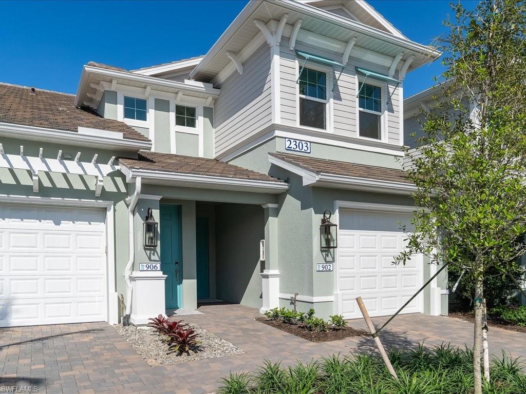
{"label": "white paneled garage door left of the 906 sign", "polygon": [[105,213],[0,204],[0,326],[107,320]]}

